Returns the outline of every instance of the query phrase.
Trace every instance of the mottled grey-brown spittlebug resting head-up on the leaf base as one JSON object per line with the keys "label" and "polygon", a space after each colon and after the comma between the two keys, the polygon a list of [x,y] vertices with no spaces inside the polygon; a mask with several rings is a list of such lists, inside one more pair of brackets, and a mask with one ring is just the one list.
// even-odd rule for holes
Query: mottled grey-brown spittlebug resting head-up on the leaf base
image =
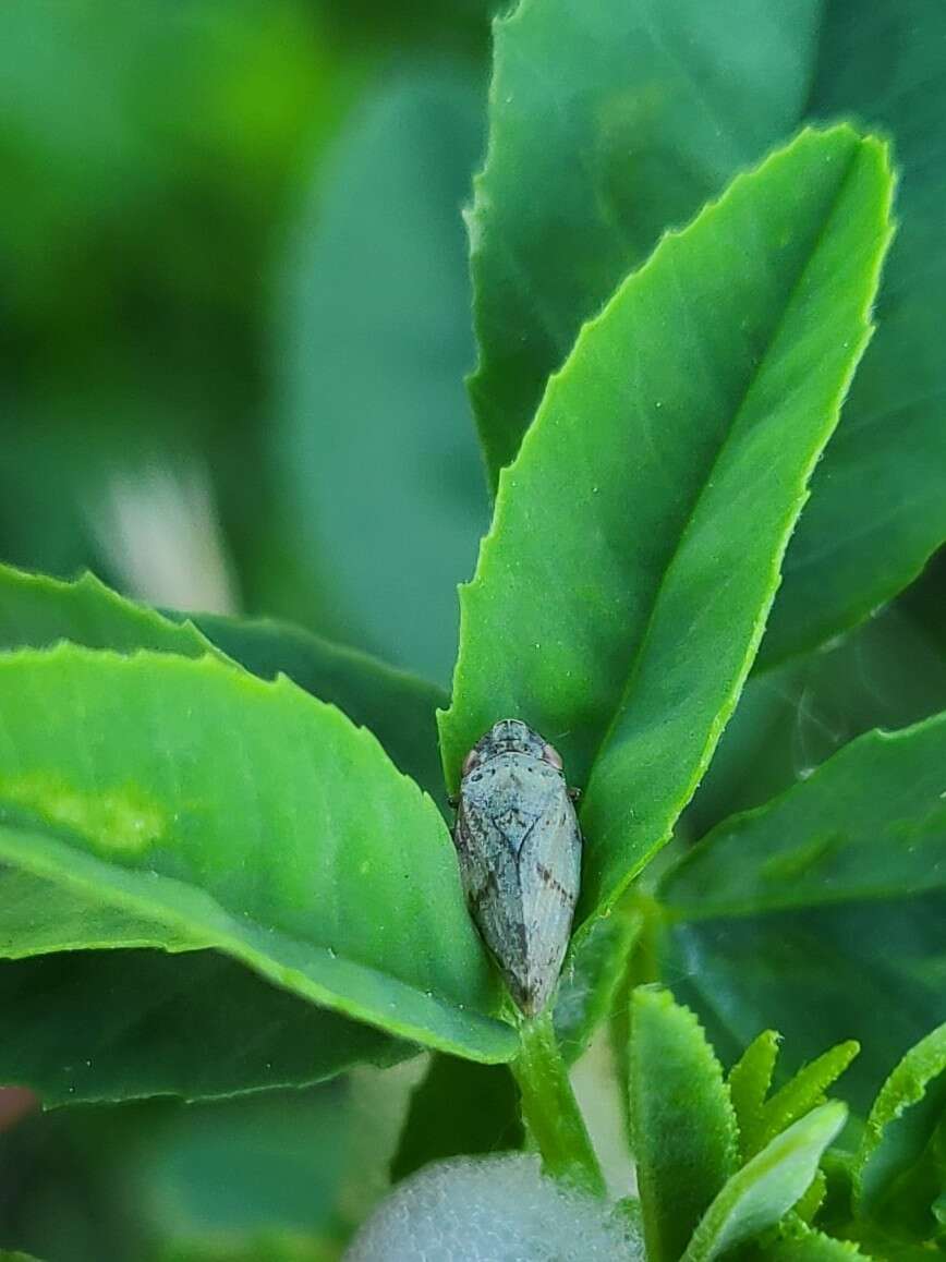
{"label": "mottled grey-brown spittlebug resting head-up on the leaf base", "polygon": [[454,843],[470,914],[527,1015],[555,988],[581,872],[581,833],[561,758],[520,719],[467,755]]}

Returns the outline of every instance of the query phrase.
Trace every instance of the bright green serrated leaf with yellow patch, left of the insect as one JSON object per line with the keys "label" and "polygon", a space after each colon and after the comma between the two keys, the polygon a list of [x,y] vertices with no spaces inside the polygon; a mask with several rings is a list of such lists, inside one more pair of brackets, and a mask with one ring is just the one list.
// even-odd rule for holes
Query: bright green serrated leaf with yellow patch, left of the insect
{"label": "bright green serrated leaf with yellow patch, left of the insect", "polygon": [[515,1054],[443,819],[368,732],[209,658],[62,646],[0,658],[0,680],[8,864],[149,921],[149,945],[213,945],[402,1037]]}

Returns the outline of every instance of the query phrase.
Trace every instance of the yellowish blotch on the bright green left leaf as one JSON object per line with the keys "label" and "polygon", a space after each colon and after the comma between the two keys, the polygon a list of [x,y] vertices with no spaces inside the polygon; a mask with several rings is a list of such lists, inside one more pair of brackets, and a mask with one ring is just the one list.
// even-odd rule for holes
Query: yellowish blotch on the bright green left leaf
{"label": "yellowish blotch on the bright green left leaf", "polygon": [[164,811],[135,785],[88,793],[37,772],[0,776],[0,798],[112,854],[143,854],[164,833]]}

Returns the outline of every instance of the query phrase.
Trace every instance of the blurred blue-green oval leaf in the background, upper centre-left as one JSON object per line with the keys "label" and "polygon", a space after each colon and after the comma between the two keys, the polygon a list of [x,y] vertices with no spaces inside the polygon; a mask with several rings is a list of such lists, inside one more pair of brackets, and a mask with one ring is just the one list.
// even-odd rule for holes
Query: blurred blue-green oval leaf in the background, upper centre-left
{"label": "blurred blue-green oval leaf in the background, upper centre-left", "polygon": [[285,265],[277,447],[301,560],[329,569],[366,647],[438,680],[487,517],[463,391],[481,120],[458,64],[380,85],[317,172]]}

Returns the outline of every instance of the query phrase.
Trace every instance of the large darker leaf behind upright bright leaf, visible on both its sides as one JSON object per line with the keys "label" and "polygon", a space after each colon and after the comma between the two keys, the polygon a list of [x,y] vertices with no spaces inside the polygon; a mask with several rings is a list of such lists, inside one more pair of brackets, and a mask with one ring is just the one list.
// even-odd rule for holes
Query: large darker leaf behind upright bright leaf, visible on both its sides
{"label": "large darker leaf behind upright bright leaf, visible on both its sides", "polygon": [[880,333],[812,478],[761,665],[867,617],[946,536],[943,38],[936,0],[522,0],[494,28],[470,222],[470,395],[493,485],[583,321],[669,226],[807,120],[894,138],[903,230]]}

